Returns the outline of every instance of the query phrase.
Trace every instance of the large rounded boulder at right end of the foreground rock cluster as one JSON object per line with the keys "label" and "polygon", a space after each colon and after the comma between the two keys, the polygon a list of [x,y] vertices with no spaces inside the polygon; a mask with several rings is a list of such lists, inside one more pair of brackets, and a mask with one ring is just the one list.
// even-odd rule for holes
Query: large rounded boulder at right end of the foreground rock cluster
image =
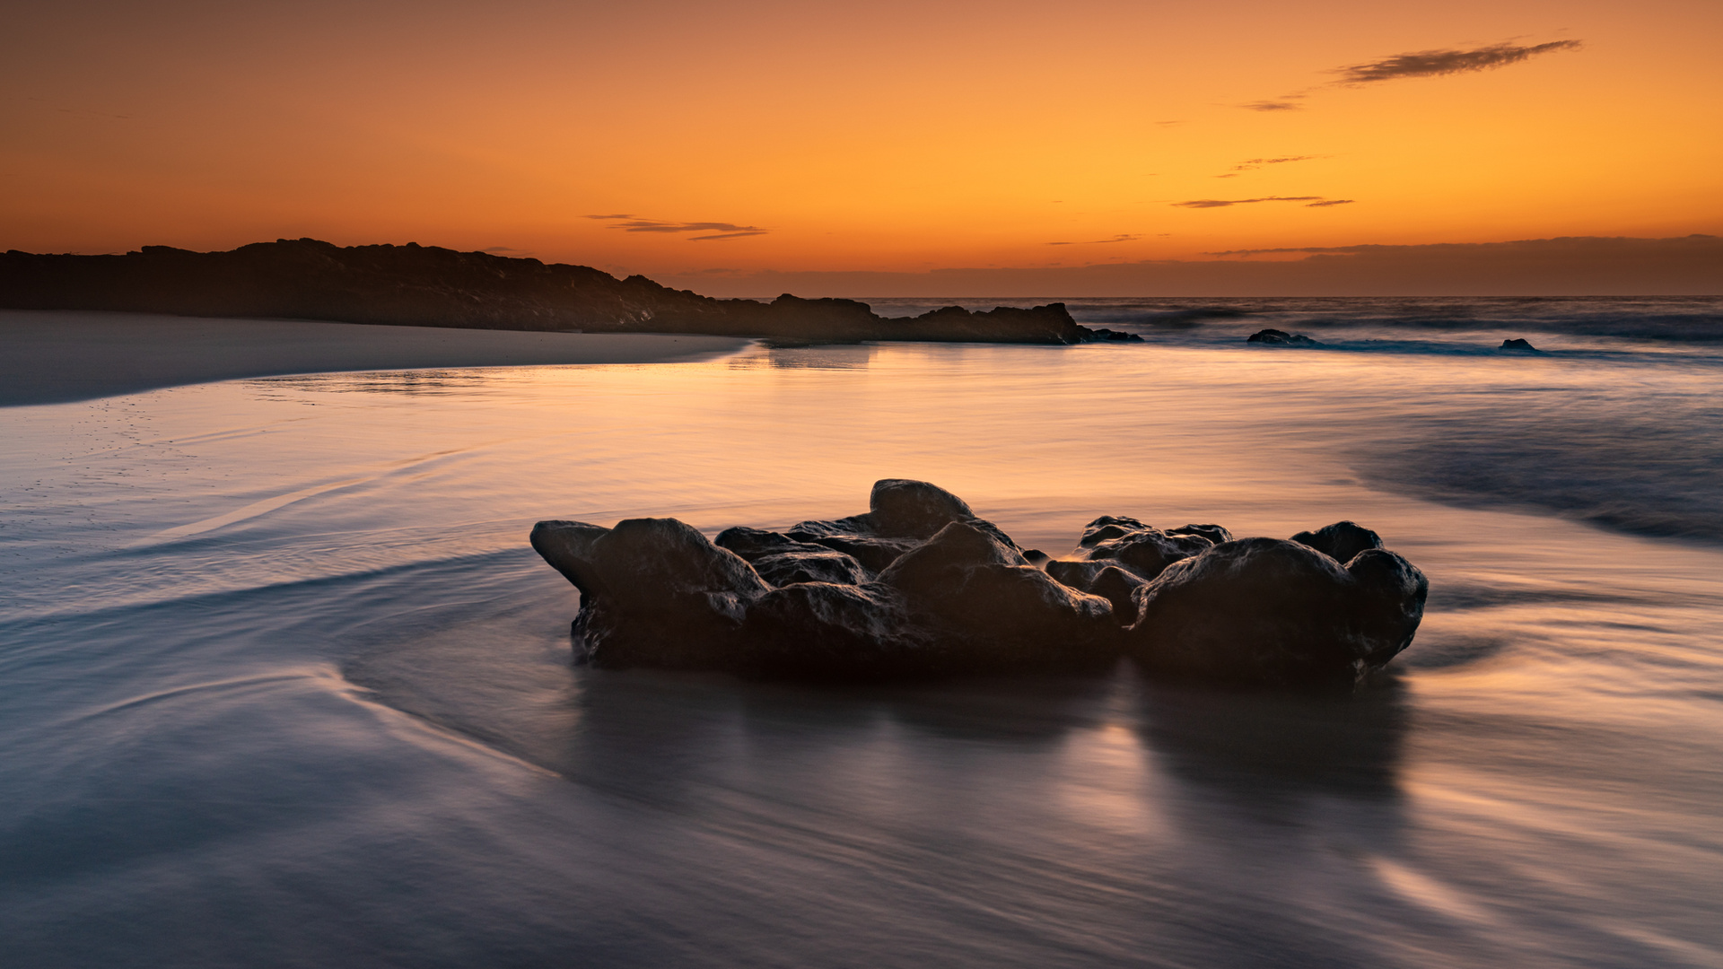
{"label": "large rounded boulder at right end of the foreground rock cluster", "polygon": [[1208,681],[1351,688],[1411,643],[1428,583],[1394,552],[1342,567],[1297,541],[1244,538],[1173,564],[1137,591],[1127,650]]}

